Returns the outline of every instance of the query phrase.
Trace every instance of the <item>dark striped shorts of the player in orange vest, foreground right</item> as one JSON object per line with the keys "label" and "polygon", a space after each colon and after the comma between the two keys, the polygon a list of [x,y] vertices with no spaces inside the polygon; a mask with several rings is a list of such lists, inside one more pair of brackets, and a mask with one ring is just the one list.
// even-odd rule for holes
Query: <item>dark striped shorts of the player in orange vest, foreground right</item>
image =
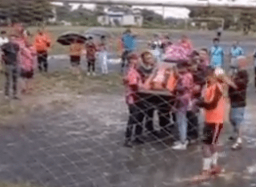
{"label": "dark striped shorts of the player in orange vest, foreground right", "polygon": [[205,144],[215,144],[218,141],[223,123],[206,123],[203,131],[202,141]]}

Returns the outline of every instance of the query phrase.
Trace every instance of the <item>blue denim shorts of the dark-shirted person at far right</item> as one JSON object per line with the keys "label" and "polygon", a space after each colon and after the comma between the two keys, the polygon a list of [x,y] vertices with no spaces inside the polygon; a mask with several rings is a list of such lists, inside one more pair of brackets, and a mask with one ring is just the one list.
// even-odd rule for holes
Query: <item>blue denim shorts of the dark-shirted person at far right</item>
{"label": "blue denim shorts of the dark-shirted person at far right", "polygon": [[236,107],[230,109],[230,122],[233,125],[235,132],[238,132],[240,124],[243,122],[244,109],[245,107]]}

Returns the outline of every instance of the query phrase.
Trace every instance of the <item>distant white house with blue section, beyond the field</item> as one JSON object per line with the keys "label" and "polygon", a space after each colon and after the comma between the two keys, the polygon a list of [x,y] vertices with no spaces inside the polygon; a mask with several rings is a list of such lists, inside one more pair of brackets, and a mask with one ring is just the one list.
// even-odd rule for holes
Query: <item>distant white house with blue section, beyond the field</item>
{"label": "distant white house with blue section, beyond the field", "polygon": [[142,26],[143,16],[140,9],[123,7],[111,7],[102,15],[97,17],[98,22],[103,25],[111,26]]}

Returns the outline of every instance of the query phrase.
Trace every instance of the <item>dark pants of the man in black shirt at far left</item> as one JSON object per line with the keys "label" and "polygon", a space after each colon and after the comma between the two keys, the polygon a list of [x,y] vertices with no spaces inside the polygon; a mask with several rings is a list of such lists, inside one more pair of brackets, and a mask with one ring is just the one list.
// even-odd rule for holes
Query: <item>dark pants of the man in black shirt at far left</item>
{"label": "dark pants of the man in black shirt at far left", "polygon": [[5,65],[5,96],[10,94],[10,85],[13,86],[13,95],[17,95],[18,69],[15,65]]}

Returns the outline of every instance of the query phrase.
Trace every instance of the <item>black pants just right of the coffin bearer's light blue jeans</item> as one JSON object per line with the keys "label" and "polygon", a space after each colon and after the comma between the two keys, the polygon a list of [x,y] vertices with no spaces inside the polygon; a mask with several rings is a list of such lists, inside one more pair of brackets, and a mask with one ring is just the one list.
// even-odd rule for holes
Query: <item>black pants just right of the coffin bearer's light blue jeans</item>
{"label": "black pants just right of the coffin bearer's light blue jeans", "polygon": [[199,131],[199,122],[197,115],[192,111],[187,111],[187,120],[188,120],[188,130],[187,136],[189,139],[197,139]]}

